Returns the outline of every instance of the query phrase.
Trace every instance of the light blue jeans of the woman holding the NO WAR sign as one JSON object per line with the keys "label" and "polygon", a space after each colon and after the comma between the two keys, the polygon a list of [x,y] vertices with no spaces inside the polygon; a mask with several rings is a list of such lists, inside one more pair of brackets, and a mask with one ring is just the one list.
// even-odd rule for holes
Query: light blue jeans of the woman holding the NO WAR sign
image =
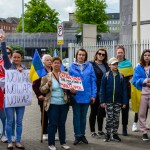
{"label": "light blue jeans of the woman holding the NO WAR sign", "polygon": [[8,138],[8,143],[12,143],[11,136],[13,133],[13,121],[14,113],[16,112],[16,142],[20,143],[22,134],[22,120],[24,116],[25,107],[9,107],[5,108],[6,113],[6,133]]}

